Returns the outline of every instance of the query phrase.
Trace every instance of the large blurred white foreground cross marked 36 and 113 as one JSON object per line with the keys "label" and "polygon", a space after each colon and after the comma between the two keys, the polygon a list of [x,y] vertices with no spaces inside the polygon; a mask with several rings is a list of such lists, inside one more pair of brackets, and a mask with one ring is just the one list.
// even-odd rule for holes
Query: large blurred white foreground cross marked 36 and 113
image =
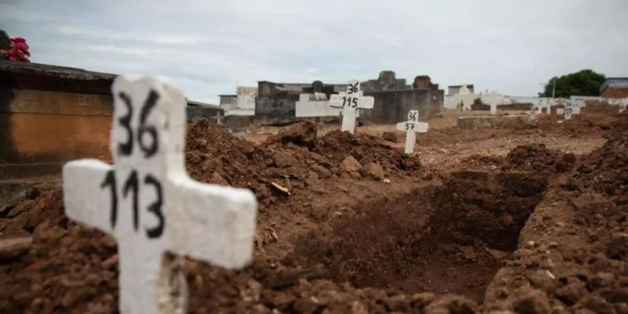
{"label": "large blurred white foreground cross marked 36 and 113", "polygon": [[154,77],[117,77],[112,92],[114,165],[82,159],[63,166],[66,216],[117,239],[121,313],[184,313],[185,281],[171,283],[176,265],[163,254],[244,267],[257,200],[250,190],[188,177],[179,89]]}

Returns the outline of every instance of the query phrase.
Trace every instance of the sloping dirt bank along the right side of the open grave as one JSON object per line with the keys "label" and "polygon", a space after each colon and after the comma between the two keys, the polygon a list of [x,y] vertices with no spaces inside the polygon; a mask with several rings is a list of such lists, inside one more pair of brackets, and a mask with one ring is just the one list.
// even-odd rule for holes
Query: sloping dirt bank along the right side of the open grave
{"label": "sloping dirt bank along the right side of the open grave", "polygon": [[627,126],[548,189],[484,311],[628,313]]}

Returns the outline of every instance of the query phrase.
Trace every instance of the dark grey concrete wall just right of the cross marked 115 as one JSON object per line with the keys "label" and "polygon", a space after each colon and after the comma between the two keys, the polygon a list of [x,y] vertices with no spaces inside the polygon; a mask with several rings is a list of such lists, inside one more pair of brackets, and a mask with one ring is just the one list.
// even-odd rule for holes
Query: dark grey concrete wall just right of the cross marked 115
{"label": "dark grey concrete wall just right of the cross marked 115", "polygon": [[427,120],[440,112],[442,91],[432,89],[408,89],[403,91],[369,91],[373,96],[373,110],[365,110],[364,118],[377,124],[396,124],[408,119],[408,111],[419,110],[419,119]]}

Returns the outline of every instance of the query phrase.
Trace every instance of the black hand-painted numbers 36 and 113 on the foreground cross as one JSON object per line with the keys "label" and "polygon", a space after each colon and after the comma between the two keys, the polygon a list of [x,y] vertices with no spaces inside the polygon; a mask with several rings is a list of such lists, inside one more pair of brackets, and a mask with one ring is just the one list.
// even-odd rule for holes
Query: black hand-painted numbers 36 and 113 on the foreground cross
{"label": "black hand-painted numbers 36 and 113 on the foreground cross", "polygon": [[[137,130],[133,130],[130,126],[131,118],[133,117],[133,105],[131,103],[130,97],[124,92],[120,92],[118,96],[121,98],[122,102],[126,106],[126,114],[122,117],[118,118],[118,122],[128,135],[128,140],[126,142],[117,143],[118,144],[118,156],[130,156],[133,154],[133,148],[135,147],[135,141],[137,140],[137,144],[142,151],[142,156],[144,158],[151,158],[157,152],[159,147],[158,136],[157,136],[157,128],[155,126],[147,125],[147,117],[151,110],[155,107],[157,100],[159,99],[159,95],[156,91],[151,90],[144,101],[144,105],[142,105],[142,109],[140,111],[140,126],[137,127]],[[147,143],[148,142],[148,143]],[[138,178],[137,170],[131,170],[128,178],[124,181],[124,186],[122,186],[122,197],[127,197],[129,193],[132,193],[131,205],[133,207],[133,230],[137,232],[140,225],[140,213],[139,213],[139,195],[140,195],[140,179]],[[144,176],[144,186],[152,186],[154,188],[155,193],[157,195],[157,200],[151,203],[148,206],[148,211],[154,214],[158,220],[158,224],[154,227],[147,227],[146,233],[149,238],[158,238],[163,233],[165,220],[163,216],[163,211],[161,209],[163,200],[162,200],[162,188],[159,180],[151,174],[146,174]],[[112,229],[115,229],[117,218],[118,218],[118,195],[117,195],[117,181],[114,170],[110,170],[107,172],[105,179],[100,184],[100,188],[110,188],[111,195],[111,216],[110,222]]]}

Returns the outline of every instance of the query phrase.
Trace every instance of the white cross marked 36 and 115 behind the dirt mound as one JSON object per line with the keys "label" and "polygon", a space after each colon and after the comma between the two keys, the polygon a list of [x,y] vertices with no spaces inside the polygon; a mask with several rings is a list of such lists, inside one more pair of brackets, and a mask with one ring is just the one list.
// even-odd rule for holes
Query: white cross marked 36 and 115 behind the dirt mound
{"label": "white cross marked 36 and 115 behind the dirt mound", "polygon": [[347,84],[347,94],[332,94],[329,99],[331,107],[343,108],[343,132],[355,131],[355,117],[358,108],[372,109],[375,99],[372,96],[361,96],[360,82],[358,80],[350,80]]}

